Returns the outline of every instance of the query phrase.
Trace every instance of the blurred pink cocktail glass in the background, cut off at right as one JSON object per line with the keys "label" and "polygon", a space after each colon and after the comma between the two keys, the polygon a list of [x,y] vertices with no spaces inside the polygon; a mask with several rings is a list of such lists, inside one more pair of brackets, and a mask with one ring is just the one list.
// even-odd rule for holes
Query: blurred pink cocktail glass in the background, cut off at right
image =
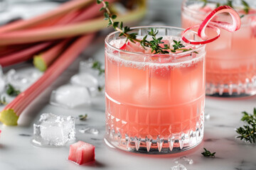
{"label": "blurred pink cocktail glass in the background, cut off at right", "polygon": [[[215,3],[225,1],[213,0]],[[240,13],[240,30],[230,33],[220,29],[220,38],[206,45],[206,94],[212,96],[251,96],[256,94],[256,1],[247,1],[251,10],[245,14],[241,1],[233,1]],[[184,0],[181,11],[183,28],[200,24],[214,3]],[[216,16],[218,21],[230,21],[230,16]]]}

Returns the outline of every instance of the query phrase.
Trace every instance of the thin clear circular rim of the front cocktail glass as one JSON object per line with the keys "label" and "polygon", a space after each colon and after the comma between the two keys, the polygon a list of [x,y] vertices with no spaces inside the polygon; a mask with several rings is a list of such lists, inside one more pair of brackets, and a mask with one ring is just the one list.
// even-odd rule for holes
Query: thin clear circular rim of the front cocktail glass
{"label": "thin clear circular rim of the front cocktail glass", "polygon": [[[173,26],[137,26],[137,27],[132,27],[131,30],[135,30],[135,29],[139,29],[139,28],[172,28],[172,29],[176,29],[176,30],[186,30],[186,29],[183,29],[183,28],[178,28],[178,27],[173,27]],[[191,33],[194,33],[196,35],[198,35],[195,31],[193,30],[188,30],[188,32],[191,32]],[[111,35],[114,35],[116,33],[119,33],[119,31],[113,31],[112,33],[109,33],[106,38],[105,38],[105,44],[112,48],[113,50],[116,50],[117,52],[124,52],[124,54],[127,54],[127,55],[143,55],[143,56],[152,56],[152,55],[161,55],[161,57],[179,57],[179,56],[182,56],[182,55],[188,55],[190,54],[191,52],[196,52],[196,50],[202,50],[203,47],[205,47],[206,45],[196,45],[198,47],[196,47],[195,49],[193,50],[189,50],[187,52],[179,52],[179,53],[169,53],[169,54],[154,54],[154,53],[150,53],[150,54],[144,54],[142,52],[129,52],[129,51],[126,51],[126,50],[121,50],[117,47],[114,47],[113,45],[110,45],[110,42],[108,42],[109,38]],[[198,38],[200,38],[198,36]],[[184,42],[186,43],[186,42]],[[187,44],[187,43],[186,43]]]}

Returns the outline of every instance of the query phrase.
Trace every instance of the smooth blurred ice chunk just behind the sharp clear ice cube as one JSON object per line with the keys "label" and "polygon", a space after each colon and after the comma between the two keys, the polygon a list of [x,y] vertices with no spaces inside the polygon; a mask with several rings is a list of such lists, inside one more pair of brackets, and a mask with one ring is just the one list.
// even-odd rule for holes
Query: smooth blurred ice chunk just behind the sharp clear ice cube
{"label": "smooth blurred ice chunk just behind the sharp clear ice cube", "polygon": [[90,93],[83,86],[66,84],[54,90],[50,96],[50,104],[64,108],[74,108],[80,105],[90,105]]}

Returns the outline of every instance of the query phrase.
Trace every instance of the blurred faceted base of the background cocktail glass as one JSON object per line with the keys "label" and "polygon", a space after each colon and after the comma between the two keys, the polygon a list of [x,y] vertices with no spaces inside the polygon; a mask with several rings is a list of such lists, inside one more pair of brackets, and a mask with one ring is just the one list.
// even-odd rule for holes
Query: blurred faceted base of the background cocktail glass
{"label": "blurred faceted base of the background cocktail glass", "polygon": [[256,94],[256,81],[245,84],[211,84],[206,83],[206,95],[219,97],[245,97]]}

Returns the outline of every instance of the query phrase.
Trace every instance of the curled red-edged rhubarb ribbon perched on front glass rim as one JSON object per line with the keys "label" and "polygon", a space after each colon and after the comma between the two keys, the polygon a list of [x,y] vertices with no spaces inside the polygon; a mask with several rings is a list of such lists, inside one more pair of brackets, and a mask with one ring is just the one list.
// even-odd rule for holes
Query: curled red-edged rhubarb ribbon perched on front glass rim
{"label": "curled red-edged rhubarb ribbon perched on front glass rim", "polygon": [[[221,22],[221,21],[211,21],[216,15],[220,13],[229,13],[230,16],[232,17],[233,23],[226,23],[226,22]],[[234,32],[238,30],[241,26],[241,20],[239,14],[230,6],[220,6],[218,8],[215,8],[206,18],[203,20],[200,26],[191,26],[190,28],[187,28],[183,34],[181,35],[182,40],[193,44],[193,45],[198,45],[198,44],[206,44],[209,42],[212,42],[213,40],[216,40],[220,36],[220,30],[218,28],[223,28],[224,30],[228,30],[230,32]],[[188,30],[191,30],[192,28],[197,28],[198,27],[198,36],[203,39],[203,41],[196,42],[192,40],[188,40],[185,35]],[[216,28],[218,27],[218,28]],[[208,36],[206,35],[205,31],[206,28],[211,28],[216,31],[217,35],[214,38],[211,38],[208,40]]]}

